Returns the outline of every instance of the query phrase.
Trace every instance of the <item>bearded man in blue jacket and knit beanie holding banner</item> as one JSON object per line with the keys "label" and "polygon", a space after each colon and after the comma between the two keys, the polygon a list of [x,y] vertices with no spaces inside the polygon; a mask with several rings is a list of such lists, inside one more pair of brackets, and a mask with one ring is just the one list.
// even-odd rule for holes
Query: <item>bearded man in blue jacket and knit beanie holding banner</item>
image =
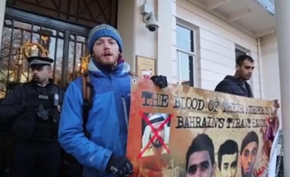
{"label": "bearded man in blue jacket and knit beanie holding banner", "polygon": [[[88,37],[92,55],[89,77],[92,108],[83,128],[82,78],[67,88],[59,128],[59,142],[83,165],[83,176],[129,176],[133,166],[126,156],[130,112],[130,66],[121,57],[123,44],[109,25],[94,27]],[[165,76],[153,76],[155,85],[167,86]]]}

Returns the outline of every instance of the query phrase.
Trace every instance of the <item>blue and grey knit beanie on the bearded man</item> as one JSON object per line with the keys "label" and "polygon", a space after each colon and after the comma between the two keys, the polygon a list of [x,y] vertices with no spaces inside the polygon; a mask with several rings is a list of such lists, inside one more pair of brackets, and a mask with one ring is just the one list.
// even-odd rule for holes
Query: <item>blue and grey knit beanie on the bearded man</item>
{"label": "blue and grey knit beanie on the bearded man", "polygon": [[111,37],[114,40],[116,40],[119,46],[119,51],[122,53],[123,41],[119,32],[111,25],[101,24],[101,25],[95,26],[89,34],[88,47],[89,47],[90,54],[93,53],[93,46],[94,46],[95,41],[101,37]]}

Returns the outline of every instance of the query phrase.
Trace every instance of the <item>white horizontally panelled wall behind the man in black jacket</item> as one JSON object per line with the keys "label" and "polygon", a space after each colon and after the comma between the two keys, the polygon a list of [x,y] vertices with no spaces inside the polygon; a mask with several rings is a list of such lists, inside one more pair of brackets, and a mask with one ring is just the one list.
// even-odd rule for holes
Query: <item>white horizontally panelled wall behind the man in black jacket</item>
{"label": "white horizontally panelled wall behind the man in black jacket", "polygon": [[[199,27],[200,63],[197,66],[201,88],[214,90],[226,75],[235,72],[235,44],[248,50],[255,60],[253,91],[260,98],[260,74],[257,40],[233,25],[185,1],[176,1],[176,17]],[[172,61],[175,62],[174,60]],[[173,71],[176,71],[174,69]],[[173,73],[172,75],[176,75]]]}

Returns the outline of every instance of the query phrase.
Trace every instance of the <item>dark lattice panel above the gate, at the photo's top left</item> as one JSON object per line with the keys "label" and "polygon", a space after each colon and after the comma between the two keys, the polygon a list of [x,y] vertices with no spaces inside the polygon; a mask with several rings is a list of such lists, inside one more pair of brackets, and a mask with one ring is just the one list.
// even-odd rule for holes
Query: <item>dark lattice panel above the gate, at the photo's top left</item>
{"label": "dark lattice panel above the gate, at the photo's top left", "polygon": [[117,26],[118,0],[7,0],[7,4],[85,26]]}

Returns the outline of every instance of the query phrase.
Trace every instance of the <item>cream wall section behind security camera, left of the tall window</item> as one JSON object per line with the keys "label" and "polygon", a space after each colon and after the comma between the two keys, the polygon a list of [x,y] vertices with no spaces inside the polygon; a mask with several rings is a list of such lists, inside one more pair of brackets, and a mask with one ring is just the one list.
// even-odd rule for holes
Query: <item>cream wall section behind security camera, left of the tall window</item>
{"label": "cream wall section behind security camera, left of the tall window", "polygon": [[[176,9],[169,0],[120,0],[118,5],[118,30],[123,38],[125,60],[130,63],[131,71],[136,72],[136,56],[148,57],[156,60],[158,75],[168,77],[171,82],[172,45],[172,13]],[[143,22],[141,6],[153,8],[159,29],[151,32]],[[171,0],[170,0],[171,2]],[[172,1],[174,2],[174,1]],[[175,51],[175,49],[174,49]],[[175,55],[175,54],[174,54]]]}

